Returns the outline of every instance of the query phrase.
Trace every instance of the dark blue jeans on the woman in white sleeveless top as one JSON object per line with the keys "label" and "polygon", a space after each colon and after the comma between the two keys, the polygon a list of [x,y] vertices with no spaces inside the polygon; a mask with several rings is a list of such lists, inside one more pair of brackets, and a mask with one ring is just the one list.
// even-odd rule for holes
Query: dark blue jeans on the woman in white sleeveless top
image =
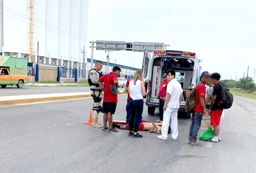
{"label": "dark blue jeans on the woman in white sleeveless top", "polygon": [[143,99],[133,100],[130,98],[129,107],[130,107],[130,118],[129,118],[129,129],[136,133],[139,129],[139,125],[142,119],[144,102]]}

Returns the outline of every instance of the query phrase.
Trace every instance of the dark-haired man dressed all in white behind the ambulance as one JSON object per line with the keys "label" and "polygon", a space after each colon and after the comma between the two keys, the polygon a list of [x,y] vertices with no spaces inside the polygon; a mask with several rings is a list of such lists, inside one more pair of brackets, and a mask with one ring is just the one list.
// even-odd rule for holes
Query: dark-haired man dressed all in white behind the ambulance
{"label": "dark-haired man dressed all in white behind the ambulance", "polygon": [[180,108],[180,102],[183,97],[183,90],[181,85],[175,79],[175,71],[168,70],[166,72],[167,80],[170,81],[167,85],[167,96],[166,102],[164,104],[164,118],[162,125],[162,135],[157,136],[157,138],[162,140],[167,140],[168,137],[168,127],[171,118],[171,130],[172,130],[172,139],[177,140],[178,138],[178,110]]}

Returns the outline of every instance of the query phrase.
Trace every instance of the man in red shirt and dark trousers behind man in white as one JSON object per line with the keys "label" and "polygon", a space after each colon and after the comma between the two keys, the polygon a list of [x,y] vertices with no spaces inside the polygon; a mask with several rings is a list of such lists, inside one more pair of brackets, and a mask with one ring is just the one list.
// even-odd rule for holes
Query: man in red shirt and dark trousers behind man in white
{"label": "man in red shirt and dark trousers behind man in white", "polygon": [[167,90],[167,84],[169,81],[166,78],[166,73],[163,75],[163,80],[160,83],[159,86],[159,92],[157,95],[157,98],[159,99],[159,111],[160,111],[160,119],[156,120],[156,122],[163,123],[163,116],[164,116],[164,102],[166,100],[166,90]]}

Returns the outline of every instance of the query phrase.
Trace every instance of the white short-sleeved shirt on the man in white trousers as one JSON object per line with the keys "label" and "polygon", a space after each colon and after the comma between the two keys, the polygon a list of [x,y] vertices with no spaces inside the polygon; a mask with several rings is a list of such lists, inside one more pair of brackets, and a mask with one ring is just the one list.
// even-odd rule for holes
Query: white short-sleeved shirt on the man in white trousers
{"label": "white short-sleeved shirt on the man in white trousers", "polygon": [[172,79],[168,85],[166,93],[171,94],[170,101],[167,104],[168,108],[180,108],[180,93],[183,93],[182,87],[176,79]]}

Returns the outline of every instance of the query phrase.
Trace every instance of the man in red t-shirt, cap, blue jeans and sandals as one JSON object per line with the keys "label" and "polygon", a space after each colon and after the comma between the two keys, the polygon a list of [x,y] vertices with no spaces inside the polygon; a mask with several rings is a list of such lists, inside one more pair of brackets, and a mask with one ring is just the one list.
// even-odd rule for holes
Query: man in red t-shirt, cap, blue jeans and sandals
{"label": "man in red t-shirt, cap, blue jeans and sandals", "polygon": [[205,83],[208,83],[210,74],[208,71],[204,71],[200,76],[200,83],[196,85],[196,106],[192,111],[192,122],[189,130],[188,144],[192,146],[203,146],[199,142],[196,142],[198,130],[201,126],[203,115],[206,114],[205,108]]}

